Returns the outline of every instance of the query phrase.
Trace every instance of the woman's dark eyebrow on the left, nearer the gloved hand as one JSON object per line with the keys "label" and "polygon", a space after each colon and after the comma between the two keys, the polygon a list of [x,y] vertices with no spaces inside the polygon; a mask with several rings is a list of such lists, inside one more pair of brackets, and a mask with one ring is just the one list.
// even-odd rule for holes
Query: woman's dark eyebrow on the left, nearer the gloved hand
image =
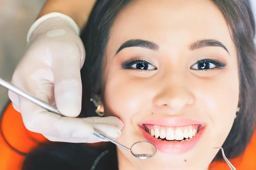
{"label": "woman's dark eyebrow on the left, nearer the gloved hand", "polygon": [[146,40],[128,40],[124,42],[119,49],[116,51],[116,54],[119,53],[122,49],[124,48],[129,48],[129,47],[142,47],[142,48],[148,48],[154,51],[157,51],[159,49],[159,46],[151,41],[146,41]]}

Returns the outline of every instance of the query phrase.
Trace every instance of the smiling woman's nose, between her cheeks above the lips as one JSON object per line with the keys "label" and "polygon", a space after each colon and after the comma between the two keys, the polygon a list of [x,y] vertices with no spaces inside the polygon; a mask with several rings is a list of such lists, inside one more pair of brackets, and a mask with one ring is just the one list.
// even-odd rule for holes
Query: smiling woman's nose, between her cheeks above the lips
{"label": "smiling woman's nose, between her cheeks above the lips", "polygon": [[186,85],[165,85],[162,86],[159,93],[154,97],[154,105],[158,107],[171,108],[180,110],[186,105],[192,105],[195,101],[195,96]]}

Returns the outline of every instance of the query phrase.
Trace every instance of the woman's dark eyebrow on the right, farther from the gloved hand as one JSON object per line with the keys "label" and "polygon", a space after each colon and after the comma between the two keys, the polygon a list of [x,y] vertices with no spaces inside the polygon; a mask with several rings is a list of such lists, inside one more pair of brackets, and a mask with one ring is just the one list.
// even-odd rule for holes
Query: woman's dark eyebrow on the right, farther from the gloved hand
{"label": "woman's dark eyebrow on the right, farther from the gloved hand", "polygon": [[205,39],[205,40],[199,40],[199,41],[193,42],[191,45],[189,45],[189,50],[193,51],[193,50],[197,50],[204,47],[221,47],[221,48],[224,48],[224,50],[226,50],[229,54],[229,51],[227,50],[225,45],[213,39]]}

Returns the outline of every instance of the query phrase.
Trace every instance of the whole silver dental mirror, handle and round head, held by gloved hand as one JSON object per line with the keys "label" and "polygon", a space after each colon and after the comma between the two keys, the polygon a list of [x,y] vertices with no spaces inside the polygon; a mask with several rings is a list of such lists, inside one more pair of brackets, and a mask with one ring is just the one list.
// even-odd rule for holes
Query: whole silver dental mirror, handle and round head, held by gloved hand
{"label": "whole silver dental mirror, handle and round head, held by gloved hand", "polygon": [[[30,102],[35,103],[38,106],[41,106],[42,108],[46,109],[47,111],[50,111],[52,113],[56,113],[61,115],[61,113],[58,111],[57,108],[54,108],[52,105],[49,105],[48,103],[22,91],[20,88],[17,88],[16,86],[12,85],[9,82],[6,82],[5,80],[0,78],[0,85],[3,87],[9,89],[10,91],[13,91],[14,93],[24,97],[25,99],[28,99]],[[129,151],[134,155],[135,157],[139,159],[148,159],[153,157],[157,153],[157,148],[154,144],[148,141],[139,141],[134,143],[131,146],[131,149],[128,147],[125,147],[122,144],[119,144],[118,142],[115,142],[113,139],[108,138],[105,134],[99,132],[98,130],[94,129],[93,134],[95,136],[98,136],[102,139],[107,139],[108,141],[112,142],[113,144],[116,144],[119,147],[122,147],[123,149]],[[146,151],[146,153],[145,153]]]}

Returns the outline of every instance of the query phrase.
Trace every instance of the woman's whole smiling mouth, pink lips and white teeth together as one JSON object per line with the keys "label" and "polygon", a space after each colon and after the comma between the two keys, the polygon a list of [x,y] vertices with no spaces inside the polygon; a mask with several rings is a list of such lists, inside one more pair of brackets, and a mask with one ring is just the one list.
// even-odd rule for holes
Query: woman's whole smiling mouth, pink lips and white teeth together
{"label": "woman's whole smiling mouth, pink lips and white teeth together", "polygon": [[[139,124],[143,136],[148,142],[153,143],[157,150],[168,154],[181,154],[192,150],[201,139],[205,125],[187,119],[177,119],[178,123],[169,123],[166,120],[147,121]],[[176,119],[175,119],[176,121]],[[176,121],[176,122],[178,122]],[[186,122],[185,122],[186,121]],[[154,124],[155,123],[155,124]],[[183,124],[183,125],[182,125]]]}

